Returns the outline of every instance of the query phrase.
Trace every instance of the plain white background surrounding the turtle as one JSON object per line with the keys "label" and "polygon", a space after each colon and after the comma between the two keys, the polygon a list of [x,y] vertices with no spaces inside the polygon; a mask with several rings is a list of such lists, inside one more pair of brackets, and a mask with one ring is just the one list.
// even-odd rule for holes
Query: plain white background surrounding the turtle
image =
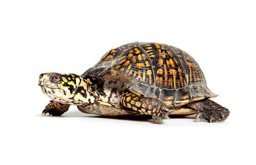
{"label": "plain white background surrounding the turtle", "polygon": [[[0,164],[255,164],[255,15],[245,0],[1,1]],[[134,41],[193,56],[226,122],[41,115],[40,73],[82,74]]]}

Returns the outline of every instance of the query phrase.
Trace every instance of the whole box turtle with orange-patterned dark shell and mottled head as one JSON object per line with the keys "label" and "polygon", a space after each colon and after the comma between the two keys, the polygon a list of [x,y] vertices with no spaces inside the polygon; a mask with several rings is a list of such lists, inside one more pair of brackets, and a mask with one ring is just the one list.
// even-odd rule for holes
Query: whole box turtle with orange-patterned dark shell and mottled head
{"label": "whole box turtle with orange-patterned dark shell and mottled head", "polygon": [[209,98],[196,61],[173,46],[133,42],[108,51],[81,76],[44,73],[42,91],[52,100],[43,115],[60,116],[70,105],[106,116],[150,115],[162,124],[169,115],[193,115],[196,121],[224,121],[229,110]]}

